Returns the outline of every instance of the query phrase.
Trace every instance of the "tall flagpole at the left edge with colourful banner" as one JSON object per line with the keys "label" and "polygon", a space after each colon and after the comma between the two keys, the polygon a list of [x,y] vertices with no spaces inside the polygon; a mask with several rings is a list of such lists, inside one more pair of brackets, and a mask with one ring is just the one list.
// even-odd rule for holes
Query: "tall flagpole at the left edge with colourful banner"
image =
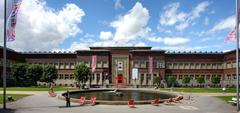
{"label": "tall flagpole at the left edge with colourful banner", "polygon": [[7,0],[4,0],[4,43],[3,43],[3,109],[6,109],[6,26],[7,26]]}

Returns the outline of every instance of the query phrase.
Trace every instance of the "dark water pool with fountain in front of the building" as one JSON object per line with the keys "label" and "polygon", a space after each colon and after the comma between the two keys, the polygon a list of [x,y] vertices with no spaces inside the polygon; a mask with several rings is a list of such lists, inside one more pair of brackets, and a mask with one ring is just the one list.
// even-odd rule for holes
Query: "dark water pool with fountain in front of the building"
{"label": "dark water pool with fountain in front of the building", "polygon": [[70,97],[73,102],[79,102],[81,96],[90,99],[92,96],[97,98],[99,104],[127,104],[129,99],[134,99],[135,104],[149,104],[151,100],[160,98],[164,99],[175,97],[176,94],[160,92],[159,90],[146,89],[91,89],[81,91],[71,91]]}

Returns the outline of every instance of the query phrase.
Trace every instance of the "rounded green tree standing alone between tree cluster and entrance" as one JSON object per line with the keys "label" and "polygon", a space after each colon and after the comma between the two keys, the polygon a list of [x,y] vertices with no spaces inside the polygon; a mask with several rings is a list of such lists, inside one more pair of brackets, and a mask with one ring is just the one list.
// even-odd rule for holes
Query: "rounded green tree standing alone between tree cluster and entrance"
{"label": "rounded green tree standing alone between tree cluster and entrance", "polygon": [[88,81],[90,75],[91,71],[89,67],[87,67],[85,64],[79,64],[75,66],[74,76],[76,81],[79,82],[79,84],[85,84]]}

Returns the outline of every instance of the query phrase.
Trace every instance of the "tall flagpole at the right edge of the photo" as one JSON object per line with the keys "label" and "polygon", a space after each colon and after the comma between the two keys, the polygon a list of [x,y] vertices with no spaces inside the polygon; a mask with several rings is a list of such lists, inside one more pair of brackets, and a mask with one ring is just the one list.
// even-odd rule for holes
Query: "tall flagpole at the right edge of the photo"
{"label": "tall flagpole at the right edge of the photo", "polygon": [[238,68],[239,68],[239,63],[238,63],[238,49],[239,49],[239,39],[238,39],[238,0],[236,0],[236,76],[237,76],[237,81],[236,81],[236,88],[237,88],[237,111],[239,111],[239,74],[238,74]]}

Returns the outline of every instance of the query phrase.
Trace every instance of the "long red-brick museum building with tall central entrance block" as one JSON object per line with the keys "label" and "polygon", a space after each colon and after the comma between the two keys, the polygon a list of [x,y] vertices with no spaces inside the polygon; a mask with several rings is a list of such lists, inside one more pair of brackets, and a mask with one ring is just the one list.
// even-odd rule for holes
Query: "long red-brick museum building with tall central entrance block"
{"label": "long red-brick museum building with tall central entrance block", "polygon": [[[0,48],[1,58],[2,53],[3,48]],[[109,80],[110,85],[120,81],[126,86],[134,83],[151,86],[154,76],[160,76],[162,80],[176,76],[179,84],[183,77],[188,76],[193,86],[197,85],[195,78],[200,76],[205,78],[206,84],[211,84],[211,77],[216,76],[221,78],[221,85],[234,85],[236,80],[235,51],[166,52],[152,50],[151,47],[90,47],[90,50],[75,52],[16,52],[7,49],[8,64],[54,65],[58,72],[55,84],[65,86],[75,84],[73,70],[76,64],[84,63],[92,69],[93,56],[96,56],[96,69],[92,74],[92,85],[102,86]],[[136,80],[133,80],[134,69],[137,70]]]}

